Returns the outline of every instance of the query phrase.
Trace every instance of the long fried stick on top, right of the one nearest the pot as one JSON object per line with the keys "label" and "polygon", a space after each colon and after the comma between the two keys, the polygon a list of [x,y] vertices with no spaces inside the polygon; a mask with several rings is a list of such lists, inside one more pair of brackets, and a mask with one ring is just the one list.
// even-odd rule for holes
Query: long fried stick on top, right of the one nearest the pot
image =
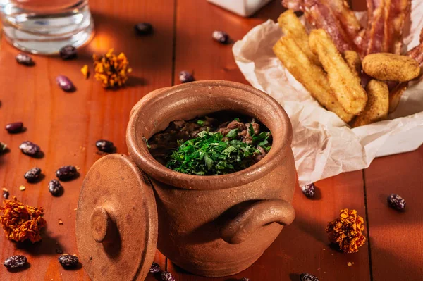
{"label": "long fried stick on top, right of the one nearest the pot", "polygon": [[329,35],[322,30],[312,30],[309,46],[319,56],[321,65],[328,73],[329,86],[345,112],[358,115],[367,102],[367,94],[353,70],[345,63]]}

